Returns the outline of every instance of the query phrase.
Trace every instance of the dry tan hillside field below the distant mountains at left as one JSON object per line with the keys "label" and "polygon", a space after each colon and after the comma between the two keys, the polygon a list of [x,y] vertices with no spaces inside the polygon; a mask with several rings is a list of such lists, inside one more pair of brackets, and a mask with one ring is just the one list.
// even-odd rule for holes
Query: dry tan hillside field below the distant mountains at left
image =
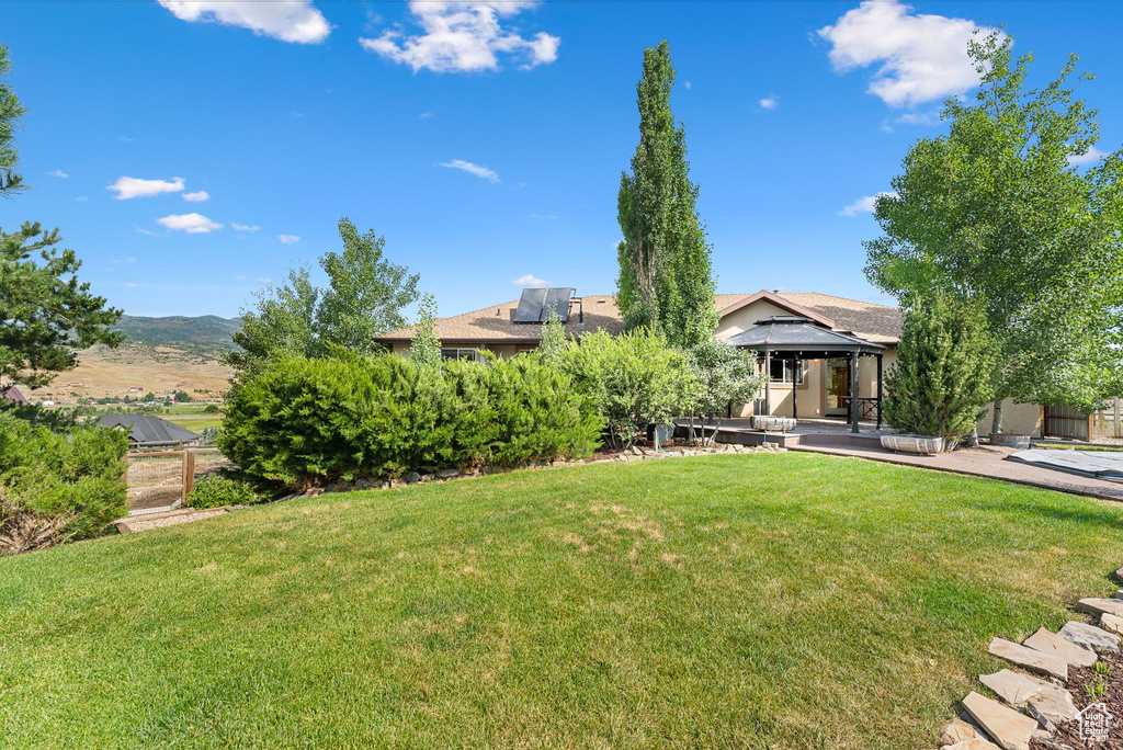
{"label": "dry tan hillside field below the distant mountains at left", "polygon": [[163,396],[173,391],[208,399],[218,397],[229,387],[227,381],[232,372],[214,359],[166,347],[94,347],[80,358],[75,369],[63,373],[49,386],[37,391],[25,388],[24,393],[31,401],[49,399],[67,404],[82,397],[137,399],[149,392]]}

